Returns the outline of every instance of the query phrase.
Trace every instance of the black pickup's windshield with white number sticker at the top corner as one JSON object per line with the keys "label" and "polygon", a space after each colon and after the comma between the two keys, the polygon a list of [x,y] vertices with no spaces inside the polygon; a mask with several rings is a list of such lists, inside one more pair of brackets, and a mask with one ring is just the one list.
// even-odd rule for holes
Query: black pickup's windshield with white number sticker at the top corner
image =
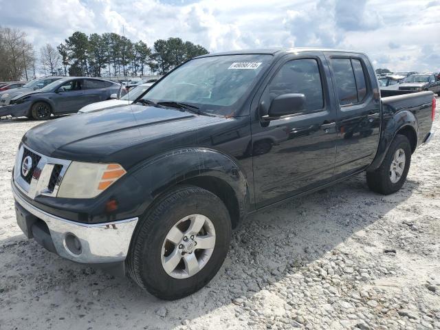
{"label": "black pickup's windshield with white number sticker at the top corner", "polygon": [[272,60],[270,55],[195,58],[153,85],[142,97],[153,102],[181,102],[215,114],[231,113]]}

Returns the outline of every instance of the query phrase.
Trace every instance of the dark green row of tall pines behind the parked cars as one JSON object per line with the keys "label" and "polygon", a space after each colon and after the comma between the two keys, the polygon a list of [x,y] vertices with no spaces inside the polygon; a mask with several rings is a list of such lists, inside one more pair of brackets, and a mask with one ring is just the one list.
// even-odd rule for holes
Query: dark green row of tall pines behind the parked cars
{"label": "dark green row of tall pines behind the parked cars", "polygon": [[[49,46],[46,45],[42,54],[49,53]],[[87,36],[79,31],[56,48],[59,58],[52,62],[60,63],[64,74],[69,73],[70,76],[166,74],[192,57],[208,54],[208,50],[201,45],[180,38],[159,39],[151,48],[144,41],[133,42],[116,33],[93,33]],[[56,65],[49,67],[51,74],[59,72]]]}

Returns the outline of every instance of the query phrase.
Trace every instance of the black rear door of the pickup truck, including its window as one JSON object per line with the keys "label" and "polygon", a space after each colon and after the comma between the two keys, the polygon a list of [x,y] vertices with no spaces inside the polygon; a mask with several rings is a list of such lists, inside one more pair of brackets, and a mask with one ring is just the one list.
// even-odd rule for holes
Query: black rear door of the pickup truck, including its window
{"label": "black rear door of the pickup truck, including its window", "polygon": [[338,100],[335,179],[366,168],[380,138],[380,97],[375,73],[361,54],[325,53]]}

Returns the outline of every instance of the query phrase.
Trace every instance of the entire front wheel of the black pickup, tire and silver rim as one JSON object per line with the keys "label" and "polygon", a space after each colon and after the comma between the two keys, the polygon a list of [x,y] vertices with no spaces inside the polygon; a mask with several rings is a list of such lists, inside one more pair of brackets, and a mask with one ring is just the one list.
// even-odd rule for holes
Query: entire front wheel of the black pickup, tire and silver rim
{"label": "entire front wheel of the black pickup, tire and silver rim", "polygon": [[140,221],[127,266],[131,278],[157,298],[174,300],[197,292],[217,274],[228,253],[229,212],[208,190],[176,188]]}

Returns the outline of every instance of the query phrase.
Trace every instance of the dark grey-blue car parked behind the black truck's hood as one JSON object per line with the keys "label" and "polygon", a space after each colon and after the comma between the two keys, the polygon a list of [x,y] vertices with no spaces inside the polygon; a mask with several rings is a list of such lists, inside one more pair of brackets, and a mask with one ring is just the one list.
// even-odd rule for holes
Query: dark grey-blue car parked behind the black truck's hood
{"label": "dark grey-blue car parked behind the black truck's hood", "polygon": [[50,115],[76,113],[87,104],[109,100],[120,85],[113,81],[87,77],[68,77],[50,83],[37,91],[21,94],[0,107],[0,117],[26,116],[46,120]]}

